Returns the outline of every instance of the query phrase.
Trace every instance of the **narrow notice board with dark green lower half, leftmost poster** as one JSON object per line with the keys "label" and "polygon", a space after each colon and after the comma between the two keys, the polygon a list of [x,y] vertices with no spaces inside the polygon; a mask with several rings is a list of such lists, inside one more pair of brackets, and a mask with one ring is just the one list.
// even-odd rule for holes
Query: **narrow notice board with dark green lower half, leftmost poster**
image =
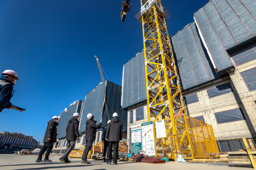
{"label": "narrow notice board with dark green lower half, leftmost poster", "polygon": [[141,150],[141,124],[132,126],[132,154],[139,154]]}

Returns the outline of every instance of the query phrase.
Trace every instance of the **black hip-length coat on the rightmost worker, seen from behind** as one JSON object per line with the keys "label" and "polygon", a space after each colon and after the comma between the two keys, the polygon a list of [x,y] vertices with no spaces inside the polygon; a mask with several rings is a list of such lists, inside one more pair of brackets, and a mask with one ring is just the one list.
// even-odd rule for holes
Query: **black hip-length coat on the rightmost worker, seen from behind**
{"label": "black hip-length coat on the rightmost worker, seen from behind", "polygon": [[106,131],[106,139],[109,142],[119,142],[123,138],[123,124],[117,117],[111,119]]}

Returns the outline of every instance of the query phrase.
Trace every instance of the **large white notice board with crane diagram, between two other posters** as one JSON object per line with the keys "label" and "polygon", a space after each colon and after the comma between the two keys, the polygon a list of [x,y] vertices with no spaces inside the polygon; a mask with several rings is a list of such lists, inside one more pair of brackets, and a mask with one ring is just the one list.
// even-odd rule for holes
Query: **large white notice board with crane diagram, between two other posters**
{"label": "large white notice board with crane diagram, between two other posters", "polygon": [[[142,123],[142,150],[147,151],[148,155],[155,156],[155,141],[153,122]],[[146,135],[145,135],[146,134]]]}

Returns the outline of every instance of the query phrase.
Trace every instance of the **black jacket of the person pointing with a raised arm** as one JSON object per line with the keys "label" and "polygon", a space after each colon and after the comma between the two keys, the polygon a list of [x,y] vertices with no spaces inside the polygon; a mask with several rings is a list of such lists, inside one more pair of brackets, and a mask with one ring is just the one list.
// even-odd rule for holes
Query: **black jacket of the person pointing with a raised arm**
{"label": "black jacket of the person pointing with a raised arm", "polygon": [[99,125],[96,124],[97,121],[93,121],[92,119],[88,119],[86,121],[85,127],[85,140],[95,140],[96,139],[96,130],[101,127],[102,123]]}

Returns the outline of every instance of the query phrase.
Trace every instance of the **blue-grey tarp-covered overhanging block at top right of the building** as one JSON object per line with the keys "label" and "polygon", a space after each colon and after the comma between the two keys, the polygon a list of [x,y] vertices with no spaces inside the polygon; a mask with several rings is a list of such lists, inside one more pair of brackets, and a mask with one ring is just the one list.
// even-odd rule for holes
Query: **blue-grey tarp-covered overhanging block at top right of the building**
{"label": "blue-grey tarp-covered overhanging block at top right of the building", "polygon": [[248,46],[255,42],[255,7],[255,0],[211,0],[194,13],[200,36],[218,75],[233,67],[228,53],[236,65],[256,58],[250,53],[253,45]]}

